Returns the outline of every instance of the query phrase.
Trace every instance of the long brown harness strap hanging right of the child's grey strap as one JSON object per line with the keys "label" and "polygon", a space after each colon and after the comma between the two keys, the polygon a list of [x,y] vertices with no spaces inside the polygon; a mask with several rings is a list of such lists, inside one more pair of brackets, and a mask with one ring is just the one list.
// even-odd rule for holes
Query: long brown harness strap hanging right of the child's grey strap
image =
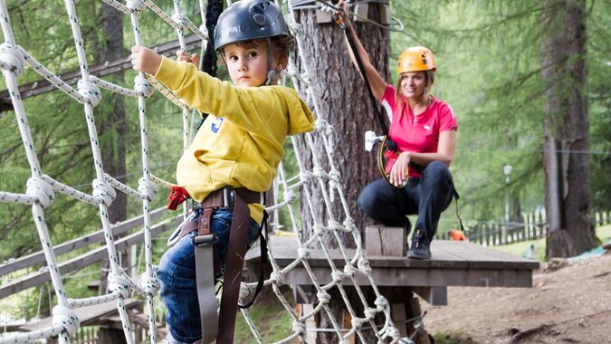
{"label": "long brown harness strap hanging right of the child's grey strap", "polygon": [[234,192],[234,218],[229,233],[223,296],[221,297],[221,309],[218,315],[218,337],[216,338],[218,344],[232,344],[234,342],[235,315],[238,307],[238,297],[240,296],[246,239],[249,232],[250,210],[246,206],[244,198],[249,198],[253,192],[246,188],[236,188]]}

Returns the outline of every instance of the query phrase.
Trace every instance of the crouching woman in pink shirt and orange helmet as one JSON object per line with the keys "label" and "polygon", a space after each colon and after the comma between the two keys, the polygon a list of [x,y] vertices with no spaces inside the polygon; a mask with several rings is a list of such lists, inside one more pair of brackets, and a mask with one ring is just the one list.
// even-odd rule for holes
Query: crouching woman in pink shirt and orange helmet
{"label": "crouching woman in pink shirt and orange helmet", "polygon": [[[358,207],[384,225],[406,226],[407,231],[406,215],[417,214],[407,257],[429,259],[439,217],[455,194],[448,167],[454,157],[458,129],[452,108],[430,93],[436,69],[433,53],[425,47],[411,47],[401,53],[397,69],[399,80],[393,87],[371,64],[349,22],[347,34],[351,34],[356,43],[374,96],[392,110],[388,136],[400,152],[388,175],[394,186],[388,185],[383,178],[368,184],[358,196]],[[348,41],[346,43],[352,62],[358,68]],[[410,163],[423,167],[422,171],[408,168]]]}

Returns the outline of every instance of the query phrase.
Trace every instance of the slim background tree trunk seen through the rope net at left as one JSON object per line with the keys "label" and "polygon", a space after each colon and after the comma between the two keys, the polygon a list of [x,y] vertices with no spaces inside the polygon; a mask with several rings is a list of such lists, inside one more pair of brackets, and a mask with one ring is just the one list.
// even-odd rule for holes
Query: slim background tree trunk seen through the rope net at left
{"label": "slim background tree trunk seen through the rope net at left", "polygon": [[[113,61],[125,55],[123,49],[123,16],[109,5],[101,5],[102,38],[100,50],[95,52],[96,62]],[[122,84],[123,72],[115,73],[109,81]],[[128,120],[125,112],[123,96],[110,93],[104,94],[104,101],[96,108],[96,121],[100,132],[100,147],[104,171],[119,181],[126,183],[124,177],[127,173],[125,155],[128,135]],[[125,221],[128,218],[127,195],[117,192],[117,198],[109,208],[110,224]],[[128,251],[129,252],[129,251]],[[128,252],[119,253],[122,265],[129,264]],[[102,261],[102,268],[108,267],[108,261]],[[106,292],[106,273],[102,272],[100,281],[100,294]]]}

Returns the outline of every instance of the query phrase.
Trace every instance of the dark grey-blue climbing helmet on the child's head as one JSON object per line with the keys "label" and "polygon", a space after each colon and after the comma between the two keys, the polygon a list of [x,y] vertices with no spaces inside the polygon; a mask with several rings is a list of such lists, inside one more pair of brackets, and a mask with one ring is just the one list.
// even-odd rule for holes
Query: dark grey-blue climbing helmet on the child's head
{"label": "dark grey-blue climbing helmet on the child's head", "polygon": [[227,7],[215,27],[215,50],[227,44],[291,35],[278,5],[270,0],[242,0]]}

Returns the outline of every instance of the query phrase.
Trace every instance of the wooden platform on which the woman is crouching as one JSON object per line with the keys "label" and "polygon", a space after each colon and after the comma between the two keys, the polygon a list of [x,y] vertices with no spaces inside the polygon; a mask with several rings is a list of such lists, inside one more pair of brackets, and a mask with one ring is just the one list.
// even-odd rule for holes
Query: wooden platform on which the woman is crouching
{"label": "wooden platform on which the woman is crouching", "polygon": [[[295,238],[271,236],[269,245],[281,267],[297,259]],[[424,261],[406,257],[367,258],[377,286],[409,287],[435,305],[447,304],[446,288],[449,286],[531,287],[532,271],[539,268],[538,262],[466,242],[435,240],[431,244],[431,253],[432,259]],[[348,250],[348,259],[353,254],[354,250]],[[257,259],[258,256],[259,250],[254,249],[246,254],[246,260]],[[341,269],[344,261],[340,258],[339,250],[332,250],[331,257]],[[322,251],[311,250],[308,262],[321,284],[331,282],[329,263]],[[284,282],[293,286],[311,284],[303,264],[288,272]],[[358,274],[357,282],[361,286],[369,284],[368,278],[362,274]]]}

